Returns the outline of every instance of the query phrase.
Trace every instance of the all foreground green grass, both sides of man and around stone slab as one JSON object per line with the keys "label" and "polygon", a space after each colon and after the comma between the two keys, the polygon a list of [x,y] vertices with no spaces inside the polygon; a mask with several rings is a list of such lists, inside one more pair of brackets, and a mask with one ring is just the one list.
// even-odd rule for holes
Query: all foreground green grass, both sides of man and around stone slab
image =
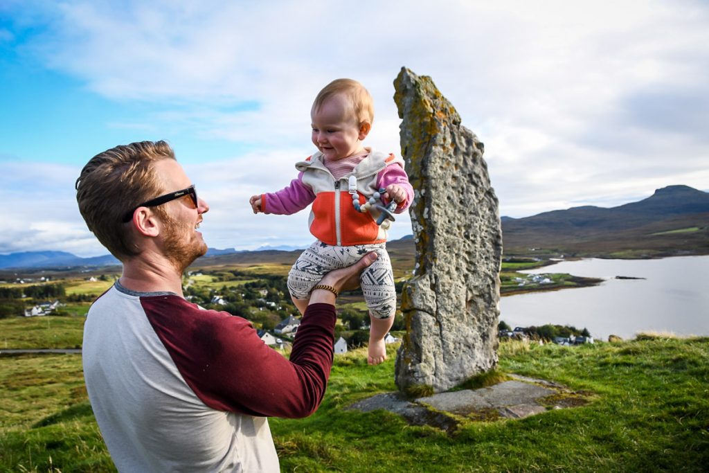
{"label": "all foreground green grass, both sides of man and around stone slab", "polygon": [[[347,406],[394,391],[393,347],[369,367],[364,350],[335,357],[328,392],[306,419],[272,418],[286,472],[705,471],[709,338],[647,334],[579,347],[501,344],[494,377],[548,379],[585,406],[520,421],[461,418],[451,434],[386,411]],[[484,382],[486,384],[486,382]],[[111,461],[83,389],[77,355],[0,358],[0,471],[102,472]],[[51,462],[50,462],[51,458]]]}

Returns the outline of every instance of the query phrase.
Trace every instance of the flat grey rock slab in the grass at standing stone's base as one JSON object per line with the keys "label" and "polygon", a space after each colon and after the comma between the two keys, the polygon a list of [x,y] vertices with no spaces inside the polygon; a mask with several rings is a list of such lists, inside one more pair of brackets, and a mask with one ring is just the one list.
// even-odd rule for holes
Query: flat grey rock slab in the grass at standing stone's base
{"label": "flat grey rock slab in the grass at standing stone's base", "polygon": [[[434,394],[415,401],[408,401],[398,392],[377,394],[353,404],[350,409],[362,412],[384,409],[402,416],[412,425],[432,425],[443,430],[454,430],[459,420],[447,414],[471,418],[525,418],[547,411],[547,407],[538,402],[540,399],[569,394],[564,386],[543,379],[518,379],[481,389]],[[479,413],[486,415],[479,416]]]}

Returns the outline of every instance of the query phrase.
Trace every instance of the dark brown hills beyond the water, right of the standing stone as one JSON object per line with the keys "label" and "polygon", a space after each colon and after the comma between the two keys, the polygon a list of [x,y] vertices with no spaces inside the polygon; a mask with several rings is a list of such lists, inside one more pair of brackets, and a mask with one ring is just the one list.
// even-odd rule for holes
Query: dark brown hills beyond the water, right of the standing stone
{"label": "dark brown hills beyond the water, right of the standing stone", "polygon": [[[582,206],[502,219],[506,255],[709,253],[709,193],[669,186],[613,208]],[[534,250],[532,250],[534,248]]]}

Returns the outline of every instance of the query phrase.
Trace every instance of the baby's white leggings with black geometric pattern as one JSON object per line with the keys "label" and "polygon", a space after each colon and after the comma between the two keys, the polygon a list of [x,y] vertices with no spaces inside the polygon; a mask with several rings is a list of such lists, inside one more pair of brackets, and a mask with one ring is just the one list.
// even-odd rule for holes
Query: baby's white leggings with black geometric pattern
{"label": "baby's white leggings with black geometric pattern", "polygon": [[288,274],[288,290],[295,299],[309,299],[313,286],[332,271],[354,265],[367,252],[379,257],[364,269],[360,280],[367,308],[376,318],[389,318],[396,311],[396,289],[386,244],[332,246],[316,240],[303,251]]}

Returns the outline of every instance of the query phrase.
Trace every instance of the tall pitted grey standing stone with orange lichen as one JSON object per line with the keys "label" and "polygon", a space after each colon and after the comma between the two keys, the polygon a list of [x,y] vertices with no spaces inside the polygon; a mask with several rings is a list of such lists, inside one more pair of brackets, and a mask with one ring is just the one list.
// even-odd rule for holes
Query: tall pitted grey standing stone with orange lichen
{"label": "tall pitted grey standing stone with orange lichen", "polygon": [[430,77],[402,68],[394,87],[416,243],[396,385],[420,395],[497,365],[502,230],[483,143]]}

